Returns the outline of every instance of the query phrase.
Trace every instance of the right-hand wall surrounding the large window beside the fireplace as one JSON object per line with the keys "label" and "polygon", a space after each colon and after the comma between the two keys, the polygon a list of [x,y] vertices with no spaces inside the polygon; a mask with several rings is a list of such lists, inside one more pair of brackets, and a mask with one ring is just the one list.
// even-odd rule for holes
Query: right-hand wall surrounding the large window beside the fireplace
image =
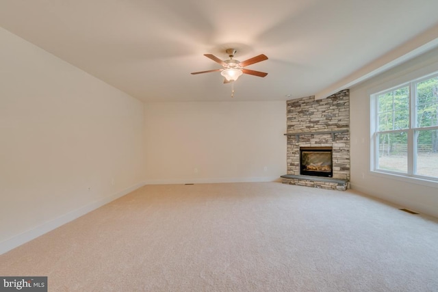
{"label": "right-hand wall surrounding the large window beside the fireplace", "polygon": [[435,49],[350,90],[352,189],[435,217],[438,217],[438,183],[420,185],[407,178],[370,172],[370,94],[437,70],[438,49]]}

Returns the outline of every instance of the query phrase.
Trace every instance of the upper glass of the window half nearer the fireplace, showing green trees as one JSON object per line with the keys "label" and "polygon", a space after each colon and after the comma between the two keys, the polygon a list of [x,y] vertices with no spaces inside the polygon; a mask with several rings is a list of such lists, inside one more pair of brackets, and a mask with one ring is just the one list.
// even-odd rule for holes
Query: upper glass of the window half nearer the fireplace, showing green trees
{"label": "upper glass of the window half nearer the fireplace, showing green trees", "polygon": [[400,88],[378,97],[378,131],[409,127],[409,87]]}

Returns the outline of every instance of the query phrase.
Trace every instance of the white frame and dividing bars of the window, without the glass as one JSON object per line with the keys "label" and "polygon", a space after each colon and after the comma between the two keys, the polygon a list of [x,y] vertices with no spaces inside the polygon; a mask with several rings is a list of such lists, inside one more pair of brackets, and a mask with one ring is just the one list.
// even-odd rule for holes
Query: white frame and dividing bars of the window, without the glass
{"label": "white frame and dividing bars of the window, without the glass", "polygon": [[[418,76],[418,75],[417,75]],[[413,76],[411,75],[411,78]],[[417,127],[416,125],[416,86],[415,83],[419,83],[421,81],[438,77],[438,71],[432,72],[427,75],[423,75],[419,78],[411,79],[407,82],[398,83],[398,85],[393,85],[390,88],[385,88],[384,90],[379,90],[370,94],[370,130],[371,130],[371,139],[370,139],[370,171],[377,175],[388,176],[390,178],[400,179],[402,181],[409,180],[413,183],[420,183],[421,185],[430,185],[433,187],[438,186],[438,174],[437,177],[430,176],[421,176],[419,174],[414,174],[414,170],[416,169],[416,158],[417,158],[417,145],[415,139],[415,131],[419,130],[436,130],[438,126],[432,127]],[[394,83],[393,83],[394,84]],[[390,131],[378,131],[378,96],[381,94],[385,94],[387,92],[392,92],[394,90],[398,90],[400,88],[404,88],[409,86],[409,126],[407,129],[400,130],[390,130]],[[382,88],[382,86],[381,86]],[[383,170],[377,168],[378,165],[378,133],[407,133],[407,173],[402,172],[391,172],[389,170]]]}

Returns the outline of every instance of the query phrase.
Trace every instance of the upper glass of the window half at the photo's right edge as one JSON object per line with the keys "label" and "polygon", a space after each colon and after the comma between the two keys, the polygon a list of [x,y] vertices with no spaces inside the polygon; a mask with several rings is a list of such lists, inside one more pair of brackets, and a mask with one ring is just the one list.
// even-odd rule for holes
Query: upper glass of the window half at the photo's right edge
{"label": "upper glass of the window half at the photo's right edge", "polygon": [[418,82],[416,85],[416,127],[438,126],[438,77]]}

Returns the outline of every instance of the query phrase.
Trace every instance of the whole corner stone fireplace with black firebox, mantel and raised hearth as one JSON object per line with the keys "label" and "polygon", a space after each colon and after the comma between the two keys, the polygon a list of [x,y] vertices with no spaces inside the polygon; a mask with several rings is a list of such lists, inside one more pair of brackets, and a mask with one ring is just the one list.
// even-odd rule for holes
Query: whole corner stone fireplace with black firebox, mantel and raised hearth
{"label": "whole corner stone fireplace with black firebox, mantel and raised hearth", "polygon": [[308,96],[287,101],[287,174],[281,176],[283,183],[348,188],[349,98],[349,90],[342,90],[321,100]]}

